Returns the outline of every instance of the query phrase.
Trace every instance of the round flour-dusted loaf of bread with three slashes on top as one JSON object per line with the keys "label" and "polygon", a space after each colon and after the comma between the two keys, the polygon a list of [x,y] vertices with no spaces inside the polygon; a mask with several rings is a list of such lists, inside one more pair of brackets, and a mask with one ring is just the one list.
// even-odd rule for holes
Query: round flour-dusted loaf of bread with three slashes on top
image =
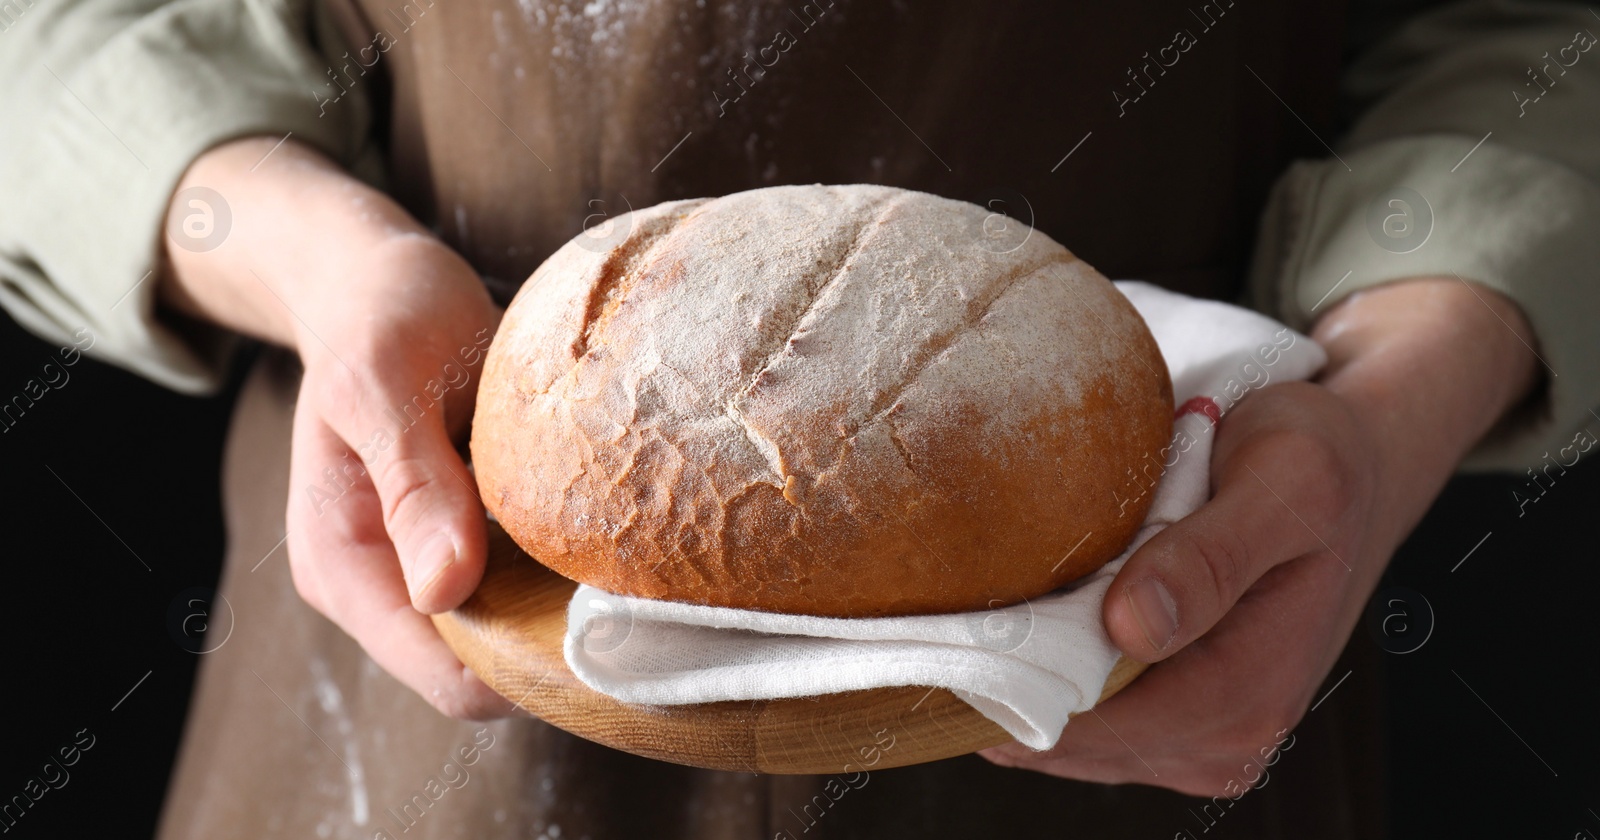
{"label": "round flour-dusted loaf of bread with three slashes on top", "polygon": [[987,610],[1099,568],[1149,507],[1166,366],[1094,269],[992,222],[773,187],[568,243],[488,352],[485,506],[574,581],[779,613]]}

